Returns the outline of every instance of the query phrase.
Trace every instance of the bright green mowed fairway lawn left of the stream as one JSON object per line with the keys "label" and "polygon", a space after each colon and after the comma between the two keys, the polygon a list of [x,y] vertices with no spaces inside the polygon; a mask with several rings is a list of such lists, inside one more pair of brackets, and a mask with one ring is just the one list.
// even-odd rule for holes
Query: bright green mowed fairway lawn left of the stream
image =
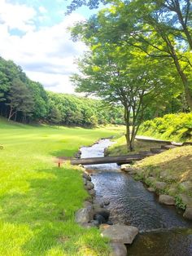
{"label": "bright green mowed fairway lawn left of the stream", "polygon": [[57,156],[122,128],[82,129],[8,124],[0,119],[0,255],[108,255],[96,228],[74,223],[87,196],[81,170]]}

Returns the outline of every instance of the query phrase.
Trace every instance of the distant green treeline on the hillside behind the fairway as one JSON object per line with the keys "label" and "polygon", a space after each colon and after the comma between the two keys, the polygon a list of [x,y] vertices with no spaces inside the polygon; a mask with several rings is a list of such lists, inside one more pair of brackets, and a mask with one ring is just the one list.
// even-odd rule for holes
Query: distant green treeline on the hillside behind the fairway
{"label": "distant green treeline on the hillside behind the fairway", "polygon": [[123,109],[109,107],[101,100],[44,90],[20,66],[0,57],[0,115],[28,123],[49,122],[69,126],[124,123]]}

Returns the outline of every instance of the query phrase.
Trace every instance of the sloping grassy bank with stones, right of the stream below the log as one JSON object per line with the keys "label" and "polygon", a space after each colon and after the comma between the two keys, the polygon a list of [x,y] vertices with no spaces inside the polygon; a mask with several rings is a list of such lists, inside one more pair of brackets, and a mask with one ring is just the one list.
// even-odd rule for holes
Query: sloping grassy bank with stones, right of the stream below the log
{"label": "sloping grassy bank with stones, right of the stream below the log", "polygon": [[[175,196],[177,206],[185,209],[185,201],[192,202],[192,146],[173,148],[138,161],[137,179],[142,179],[156,192]],[[151,178],[152,177],[152,178]],[[162,190],[156,182],[164,182]]]}

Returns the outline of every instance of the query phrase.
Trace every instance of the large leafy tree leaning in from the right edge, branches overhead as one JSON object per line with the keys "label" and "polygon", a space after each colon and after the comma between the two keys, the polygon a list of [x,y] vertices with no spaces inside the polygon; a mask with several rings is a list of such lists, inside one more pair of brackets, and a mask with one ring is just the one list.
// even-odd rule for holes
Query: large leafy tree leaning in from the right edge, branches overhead
{"label": "large leafy tree leaning in from the right edge, branches overhead", "polygon": [[98,2],[110,3],[111,7],[89,20],[89,32],[85,30],[86,33],[97,31],[100,33],[98,38],[104,36],[106,42],[134,46],[156,60],[163,60],[164,64],[170,64],[171,60],[170,68],[177,71],[181,82],[183,108],[191,110],[190,0],[72,1],[69,10],[82,3],[91,8],[98,7]]}

